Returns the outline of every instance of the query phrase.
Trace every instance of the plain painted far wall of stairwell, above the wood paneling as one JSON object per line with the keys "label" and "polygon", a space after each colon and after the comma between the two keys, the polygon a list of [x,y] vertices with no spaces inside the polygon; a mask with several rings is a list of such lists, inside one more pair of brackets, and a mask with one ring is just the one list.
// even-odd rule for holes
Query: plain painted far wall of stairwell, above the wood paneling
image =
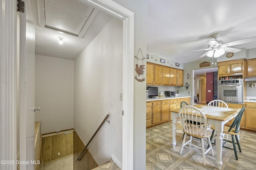
{"label": "plain painted far wall of stairwell, above the wood paneling", "polygon": [[36,55],[35,105],[42,134],[74,127],[74,60]]}

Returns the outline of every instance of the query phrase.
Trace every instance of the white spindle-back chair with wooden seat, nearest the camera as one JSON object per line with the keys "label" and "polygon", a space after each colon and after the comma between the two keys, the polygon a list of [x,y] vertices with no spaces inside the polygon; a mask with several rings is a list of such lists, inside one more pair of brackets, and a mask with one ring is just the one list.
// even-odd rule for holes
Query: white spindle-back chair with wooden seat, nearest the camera
{"label": "white spindle-back chair with wooden seat, nearest the camera", "polygon": [[[206,128],[204,128],[204,125],[207,125],[206,116],[198,108],[188,105],[188,106],[184,106],[180,109],[179,117],[180,117],[180,121],[182,123],[183,132],[185,134],[185,136],[182,140],[182,147],[180,150],[180,154],[182,154],[182,150],[186,144],[188,144],[189,146],[192,145],[197,148],[201,148],[204,165],[206,165],[205,154],[207,154],[211,150],[212,156],[214,156],[214,153],[212,150],[212,144],[210,142],[211,141],[210,136],[211,136],[212,132],[210,130],[207,130]],[[185,143],[186,135],[190,135],[190,139]],[[201,146],[192,144],[192,137],[200,138]],[[209,143],[209,147],[207,149],[204,149],[204,139],[205,138],[208,139],[208,143]]]}

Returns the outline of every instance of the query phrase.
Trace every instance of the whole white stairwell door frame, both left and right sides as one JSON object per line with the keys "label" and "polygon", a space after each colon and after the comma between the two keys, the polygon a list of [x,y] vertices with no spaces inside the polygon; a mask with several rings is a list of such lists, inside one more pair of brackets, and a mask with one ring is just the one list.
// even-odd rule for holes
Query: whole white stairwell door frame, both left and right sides
{"label": "whole white stairwell door frame, both left and right sides", "polygon": [[[134,13],[112,0],[79,0],[123,22],[122,169],[133,169]],[[16,160],[16,0],[1,0],[1,160]],[[11,9],[11,10],[10,10]],[[121,113],[120,113],[121,114]],[[4,129],[2,129],[4,128]],[[16,169],[16,164],[9,169]]]}

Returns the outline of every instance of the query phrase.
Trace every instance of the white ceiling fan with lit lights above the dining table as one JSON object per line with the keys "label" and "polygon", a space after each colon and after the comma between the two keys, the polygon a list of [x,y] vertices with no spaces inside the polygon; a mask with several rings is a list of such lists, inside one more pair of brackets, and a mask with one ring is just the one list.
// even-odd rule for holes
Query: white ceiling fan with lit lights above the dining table
{"label": "white ceiling fan with lit lights above the dining table", "polygon": [[225,52],[237,53],[238,51],[241,51],[241,49],[231,48],[229,46],[256,41],[256,37],[251,37],[251,38],[245,38],[242,40],[237,40],[234,42],[224,44],[222,41],[217,41],[217,38],[220,37],[220,35],[221,35],[220,33],[212,34],[211,37],[214,38],[215,40],[208,41],[209,47],[206,49],[196,50],[196,51],[209,50],[203,55],[201,55],[200,57],[204,57],[204,56],[212,57],[212,64],[213,64],[213,58],[216,58],[215,65],[217,64],[217,57],[220,57]]}

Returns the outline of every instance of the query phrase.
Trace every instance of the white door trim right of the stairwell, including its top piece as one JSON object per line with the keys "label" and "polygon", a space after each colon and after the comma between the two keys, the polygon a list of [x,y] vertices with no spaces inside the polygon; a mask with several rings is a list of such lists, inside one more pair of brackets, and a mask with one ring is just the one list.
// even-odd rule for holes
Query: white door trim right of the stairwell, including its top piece
{"label": "white door trim right of the stairwell, including its top piece", "polygon": [[[123,22],[122,169],[133,169],[134,13],[112,0],[79,0]],[[120,113],[121,114],[121,113]]]}

